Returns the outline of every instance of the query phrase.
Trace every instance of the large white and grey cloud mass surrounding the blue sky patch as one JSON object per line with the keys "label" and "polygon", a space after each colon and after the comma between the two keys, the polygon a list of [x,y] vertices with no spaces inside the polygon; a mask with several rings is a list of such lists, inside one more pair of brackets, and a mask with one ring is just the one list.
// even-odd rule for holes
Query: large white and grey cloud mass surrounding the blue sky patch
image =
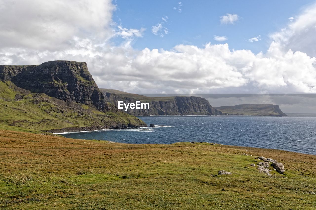
{"label": "large white and grey cloud mass surrounding the blue sky patch", "polygon": [[[316,92],[315,6],[272,34],[259,54],[210,43],[135,50],[131,41],[144,29],[117,26],[114,9],[110,0],[2,1],[0,63],[85,61],[99,87],[139,93]],[[168,33],[163,23],[152,32]],[[125,41],[113,45],[116,36]]]}

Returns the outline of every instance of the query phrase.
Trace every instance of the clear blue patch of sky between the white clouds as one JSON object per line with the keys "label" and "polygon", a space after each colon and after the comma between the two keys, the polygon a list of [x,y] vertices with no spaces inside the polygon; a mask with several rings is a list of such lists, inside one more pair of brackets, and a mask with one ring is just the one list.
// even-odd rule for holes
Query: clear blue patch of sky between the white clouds
{"label": "clear blue patch of sky between the white clouds", "polygon": [[[179,2],[181,6],[179,7]],[[116,0],[117,9],[113,21],[126,28],[146,28],[142,38],[134,40],[133,47],[142,50],[170,50],[178,44],[203,47],[206,43],[228,43],[230,49],[265,52],[271,44],[269,35],[289,23],[290,17],[315,1],[146,1]],[[174,9],[174,7],[176,9]],[[181,12],[179,12],[181,9]],[[237,14],[234,24],[221,24],[223,15]],[[168,17],[167,22],[162,18]],[[160,37],[151,32],[152,26],[163,23],[169,34]],[[227,41],[218,42],[214,36],[226,36]],[[261,36],[258,42],[248,39]],[[119,43],[119,38],[114,40]]]}

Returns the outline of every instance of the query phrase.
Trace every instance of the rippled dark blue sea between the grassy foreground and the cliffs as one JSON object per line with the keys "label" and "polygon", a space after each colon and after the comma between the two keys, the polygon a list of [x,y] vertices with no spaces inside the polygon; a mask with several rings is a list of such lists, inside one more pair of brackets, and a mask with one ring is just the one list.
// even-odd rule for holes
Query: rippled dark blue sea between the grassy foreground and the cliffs
{"label": "rippled dark blue sea between the grassy foreground and the cliffs", "polygon": [[214,142],[282,149],[316,155],[316,115],[262,116],[140,116],[144,122],[168,125],[148,130],[111,129],[64,133],[65,137],[121,143]]}

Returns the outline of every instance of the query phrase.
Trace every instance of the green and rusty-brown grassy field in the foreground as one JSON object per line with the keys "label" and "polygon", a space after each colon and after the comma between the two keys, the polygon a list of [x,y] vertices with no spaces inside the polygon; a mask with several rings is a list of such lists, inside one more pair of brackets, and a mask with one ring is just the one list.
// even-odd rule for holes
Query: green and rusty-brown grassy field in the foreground
{"label": "green and rusty-brown grassy field in the foreground", "polygon": [[[0,151],[4,209],[314,209],[316,203],[315,155],[209,143],[107,143],[3,130]],[[258,156],[282,162],[285,174],[259,173],[250,166],[260,161]],[[211,176],[219,170],[233,174]]]}

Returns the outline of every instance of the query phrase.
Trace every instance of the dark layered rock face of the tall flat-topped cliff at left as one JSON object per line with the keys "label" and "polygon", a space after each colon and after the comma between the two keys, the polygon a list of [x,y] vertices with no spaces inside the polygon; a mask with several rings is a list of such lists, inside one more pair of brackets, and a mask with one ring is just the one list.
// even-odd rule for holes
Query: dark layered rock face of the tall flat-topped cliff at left
{"label": "dark layered rock face of the tall flat-topped cliff at left", "polygon": [[111,110],[85,62],[49,61],[31,66],[0,66],[0,79],[65,102],[92,105],[103,112]]}

